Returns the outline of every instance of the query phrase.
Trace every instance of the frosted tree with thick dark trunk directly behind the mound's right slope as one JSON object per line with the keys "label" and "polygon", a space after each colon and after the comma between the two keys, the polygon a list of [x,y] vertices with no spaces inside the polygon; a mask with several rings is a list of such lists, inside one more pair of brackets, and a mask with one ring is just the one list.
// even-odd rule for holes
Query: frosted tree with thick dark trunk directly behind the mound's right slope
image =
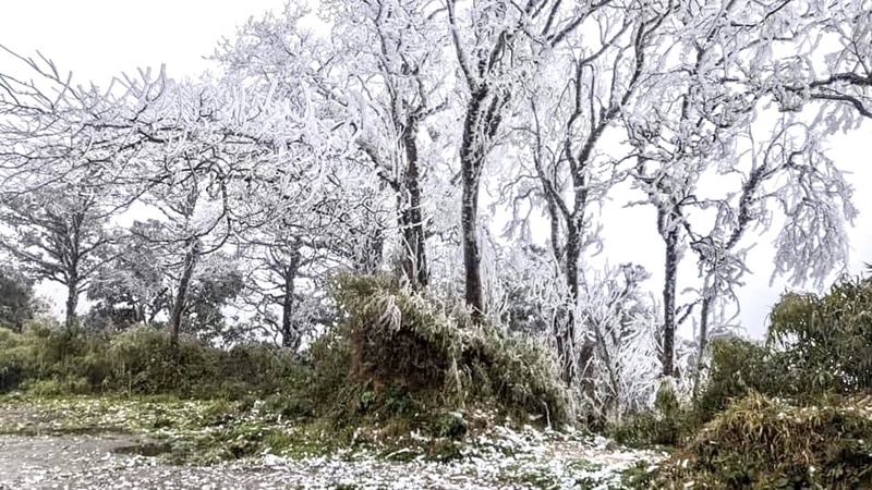
{"label": "frosted tree with thick dark trunk directly behind the mound's right slope", "polygon": [[520,4],[487,0],[461,4],[447,0],[451,33],[464,88],[459,145],[461,243],[465,301],[473,319],[486,311],[481,271],[479,192],[485,162],[500,142],[500,130],[511,115],[521,87],[536,79],[548,53],[561,46],[605,2],[528,0]]}

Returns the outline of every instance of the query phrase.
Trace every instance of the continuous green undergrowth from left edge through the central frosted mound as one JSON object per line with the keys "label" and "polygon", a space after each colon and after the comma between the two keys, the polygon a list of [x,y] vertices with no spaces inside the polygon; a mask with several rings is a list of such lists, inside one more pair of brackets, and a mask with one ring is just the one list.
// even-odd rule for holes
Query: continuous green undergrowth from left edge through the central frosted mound
{"label": "continuous green undergrowth from left edge through the central frosted mound", "polygon": [[263,343],[215,348],[137,326],[108,334],[50,323],[0,330],[0,390],[173,394],[266,400],[288,417],[336,422],[426,425],[456,437],[439,414],[470,405],[567,420],[552,353],[493,326],[473,326],[432,298],[384,278],[343,277],[335,290],[342,320],[296,355]]}

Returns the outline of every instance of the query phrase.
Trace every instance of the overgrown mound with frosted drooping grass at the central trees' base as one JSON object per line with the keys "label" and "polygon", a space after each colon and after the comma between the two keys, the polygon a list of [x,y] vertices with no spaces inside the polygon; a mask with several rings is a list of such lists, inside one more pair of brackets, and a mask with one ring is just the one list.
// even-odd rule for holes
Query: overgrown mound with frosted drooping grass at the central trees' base
{"label": "overgrown mound with frosted drooping grass at the central trees' base", "polygon": [[336,298],[346,318],[339,336],[349,348],[348,384],[362,408],[450,411],[481,403],[542,422],[566,421],[556,363],[537,342],[474,326],[464,311],[449,311],[387,279],[344,277]]}

